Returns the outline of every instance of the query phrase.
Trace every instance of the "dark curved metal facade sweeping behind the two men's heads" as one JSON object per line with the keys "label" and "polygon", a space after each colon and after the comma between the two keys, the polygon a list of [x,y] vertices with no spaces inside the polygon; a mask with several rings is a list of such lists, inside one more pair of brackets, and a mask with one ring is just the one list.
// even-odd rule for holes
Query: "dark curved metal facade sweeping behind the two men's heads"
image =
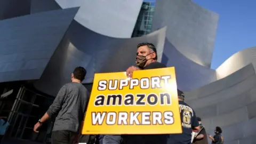
{"label": "dark curved metal facade sweeping behind the two men's heads", "polygon": [[[83,83],[92,83],[94,73],[125,71],[134,64],[137,44],[142,42],[154,43],[161,59],[165,32],[166,28],[162,28],[138,38],[113,38],[73,21],[35,87],[56,95],[63,84],[70,82],[70,74],[77,66],[87,69]],[[49,81],[54,84],[49,85]]]}

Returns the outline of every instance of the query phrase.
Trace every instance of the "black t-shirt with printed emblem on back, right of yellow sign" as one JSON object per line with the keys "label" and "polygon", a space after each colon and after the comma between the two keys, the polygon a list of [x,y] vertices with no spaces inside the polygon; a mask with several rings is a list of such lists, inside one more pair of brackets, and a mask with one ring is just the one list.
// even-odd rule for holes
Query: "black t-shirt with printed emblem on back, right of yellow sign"
{"label": "black t-shirt with printed emblem on back, right of yellow sign", "polygon": [[179,101],[180,118],[182,133],[170,134],[170,144],[189,144],[191,143],[192,127],[199,126],[195,111],[184,101]]}

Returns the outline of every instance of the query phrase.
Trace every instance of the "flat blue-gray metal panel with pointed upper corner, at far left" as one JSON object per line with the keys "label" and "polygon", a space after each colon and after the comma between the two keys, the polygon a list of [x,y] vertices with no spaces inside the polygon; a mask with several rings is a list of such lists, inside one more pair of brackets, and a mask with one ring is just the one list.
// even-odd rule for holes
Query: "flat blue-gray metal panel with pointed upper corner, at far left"
{"label": "flat blue-gray metal panel with pointed upper corner, at far left", "polygon": [[0,82],[39,79],[77,10],[0,21]]}

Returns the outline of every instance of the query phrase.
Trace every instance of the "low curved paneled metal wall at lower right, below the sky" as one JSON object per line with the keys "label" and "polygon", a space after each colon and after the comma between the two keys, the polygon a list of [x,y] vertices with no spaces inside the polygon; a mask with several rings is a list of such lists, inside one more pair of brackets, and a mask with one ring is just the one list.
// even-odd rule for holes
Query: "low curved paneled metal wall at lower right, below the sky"
{"label": "low curved paneled metal wall at lower right, below the sky", "polygon": [[208,134],[222,128],[225,143],[255,143],[256,75],[251,64],[199,89],[186,102],[202,118]]}

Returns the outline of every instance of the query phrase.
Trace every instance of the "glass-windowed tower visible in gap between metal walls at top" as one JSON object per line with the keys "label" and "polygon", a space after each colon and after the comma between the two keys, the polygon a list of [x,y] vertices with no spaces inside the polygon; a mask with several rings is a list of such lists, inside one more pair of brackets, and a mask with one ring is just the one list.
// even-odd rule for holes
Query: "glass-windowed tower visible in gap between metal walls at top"
{"label": "glass-windowed tower visible in gap between metal walls at top", "polygon": [[143,36],[151,32],[155,2],[143,2],[132,37]]}

